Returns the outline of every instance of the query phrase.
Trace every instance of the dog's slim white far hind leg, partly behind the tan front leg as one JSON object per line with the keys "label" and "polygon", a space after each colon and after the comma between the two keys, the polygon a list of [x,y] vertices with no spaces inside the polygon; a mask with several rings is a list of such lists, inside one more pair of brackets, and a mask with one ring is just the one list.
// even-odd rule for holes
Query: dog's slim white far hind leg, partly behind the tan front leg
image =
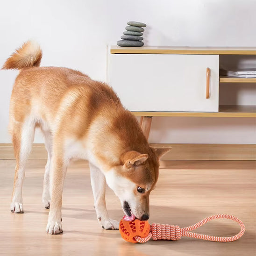
{"label": "dog's slim white far hind leg, partly behind the tan front leg", "polygon": [[43,130],[43,135],[45,139],[45,148],[48,153],[47,157],[47,163],[45,165],[45,172],[44,172],[44,178],[43,178],[43,195],[42,200],[44,207],[46,209],[50,208],[50,165],[51,165],[51,159],[52,159],[52,140],[51,140],[51,134],[49,130]]}

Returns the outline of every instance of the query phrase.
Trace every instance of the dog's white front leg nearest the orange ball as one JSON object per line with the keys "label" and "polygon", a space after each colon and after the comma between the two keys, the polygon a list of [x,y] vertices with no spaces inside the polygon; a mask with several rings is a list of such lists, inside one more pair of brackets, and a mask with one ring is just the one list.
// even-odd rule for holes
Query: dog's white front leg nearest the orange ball
{"label": "dog's white front leg nearest the orange ball", "polygon": [[119,222],[111,220],[107,213],[106,200],[105,200],[105,186],[106,179],[100,169],[90,163],[91,171],[91,184],[94,197],[94,207],[96,210],[97,218],[100,221],[102,228],[105,229],[118,229]]}

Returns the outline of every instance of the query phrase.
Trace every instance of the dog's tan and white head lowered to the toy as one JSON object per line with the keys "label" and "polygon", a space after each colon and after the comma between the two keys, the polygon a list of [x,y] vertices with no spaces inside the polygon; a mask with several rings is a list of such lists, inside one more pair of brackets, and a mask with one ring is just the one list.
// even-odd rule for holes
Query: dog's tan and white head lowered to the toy
{"label": "dog's tan and white head lowered to the toy", "polygon": [[150,148],[148,154],[128,151],[121,156],[121,165],[107,172],[107,184],[121,200],[126,215],[149,219],[149,194],[158,178],[159,158],[170,149]]}

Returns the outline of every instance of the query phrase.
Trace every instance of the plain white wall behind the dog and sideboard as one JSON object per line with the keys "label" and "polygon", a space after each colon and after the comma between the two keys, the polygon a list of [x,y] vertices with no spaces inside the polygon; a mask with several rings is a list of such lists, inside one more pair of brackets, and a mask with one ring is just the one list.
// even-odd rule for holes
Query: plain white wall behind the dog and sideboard
{"label": "plain white wall behind the dog and sideboard", "polygon": [[[107,45],[120,39],[127,21],[148,24],[146,45],[256,46],[255,10],[255,0],[1,0],[0,65],[32,38],[43,48],[43,66],[70,67],[106,81]],[[0,142],[10,142],[8,106],[16,74],[0,71]],[[235,94],[226,102],[225,86],[224,104],[239,101]],[[243,91],[241,104],[256,102],[253,86],[235,86],[234,93]],[[255,125],[249,118],[154,118],[149,141],[256,143]],[[36,135],[35,142],[42,138]]]}

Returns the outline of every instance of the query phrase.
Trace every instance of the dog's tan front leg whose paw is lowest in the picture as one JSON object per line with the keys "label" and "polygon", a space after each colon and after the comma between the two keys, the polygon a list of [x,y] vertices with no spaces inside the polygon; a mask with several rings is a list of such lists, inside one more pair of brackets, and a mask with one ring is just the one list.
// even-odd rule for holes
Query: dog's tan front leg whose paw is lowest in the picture
{"label": "dog's tan front leg whose paw is lowest in the picture", "polygon": [[64,185],[64,178],[66,174],[67,166],[63,160],[63,157],[54,156],[52,158],[51,170],[50,170],[50,212],[48,217],[48,224],[46,232],[53,235],[62,233],[62,192]]}

